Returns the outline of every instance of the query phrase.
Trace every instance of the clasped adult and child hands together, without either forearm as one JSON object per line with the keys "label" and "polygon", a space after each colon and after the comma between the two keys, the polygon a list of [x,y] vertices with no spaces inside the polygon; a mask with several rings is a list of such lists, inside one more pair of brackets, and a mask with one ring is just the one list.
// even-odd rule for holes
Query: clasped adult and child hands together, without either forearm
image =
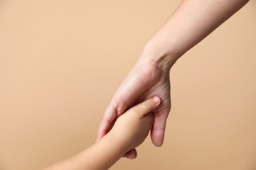
{"label": "clasped adult and child hands together, without either forearm", "polygon": [[139,61],[107,106],[97,140],[112,133],[129,146],[124,157],[134,159],[137,157],[135,147],[142,144],[149,131],[154,145],[163,144],[170,109],[169,72],[159,69],[154,62]]}

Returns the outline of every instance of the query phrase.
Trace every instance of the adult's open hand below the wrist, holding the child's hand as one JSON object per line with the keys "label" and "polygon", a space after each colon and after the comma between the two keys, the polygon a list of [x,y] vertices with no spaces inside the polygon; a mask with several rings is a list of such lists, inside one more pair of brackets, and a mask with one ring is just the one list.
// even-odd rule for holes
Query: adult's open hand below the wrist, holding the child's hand
{"label": "adult's open hand below the wrist, holding the child's hand", "polygon": [[[117,116],[152,96],[161,98],[159,107],[152,111],[154,124],[151,128],[151,140],[160,147],[164,142],[166,119],[171,110],[169,70],[165,72],[154,62],[142,57],[115,91],[100,123],[97,140],[107,134]],[[133,159],[137,157],[137,152],[132,149],[124,157]]]}

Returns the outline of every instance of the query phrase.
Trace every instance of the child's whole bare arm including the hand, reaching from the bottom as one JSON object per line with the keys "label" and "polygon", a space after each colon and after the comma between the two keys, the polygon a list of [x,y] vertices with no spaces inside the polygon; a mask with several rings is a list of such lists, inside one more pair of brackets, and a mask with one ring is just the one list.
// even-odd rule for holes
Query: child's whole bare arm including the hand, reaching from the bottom
{"label": "child's whole bare arm including the hand, reaching from the bottom", "polygon": [[[158,101],[154,99],[159,99]],[[53,164],[45,170],[103,170],[109,169],[125,152],[142,144],[149,134],[160,98],[149,98],[130,108],[117,118],[112,130],[91,147],[74,157]]]}

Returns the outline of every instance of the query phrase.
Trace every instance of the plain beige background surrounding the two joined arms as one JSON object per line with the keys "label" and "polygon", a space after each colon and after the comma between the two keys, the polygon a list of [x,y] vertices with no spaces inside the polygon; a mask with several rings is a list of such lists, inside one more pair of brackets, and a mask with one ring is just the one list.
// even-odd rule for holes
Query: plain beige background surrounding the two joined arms
{"label": "plain beige background surrounding the two joined arms", "polygon": [[[0,1],[0,169],[92,145],[115,89],[180,1]],[[171,70],[163,147],[112,169],[256,169],[256,1]]]}

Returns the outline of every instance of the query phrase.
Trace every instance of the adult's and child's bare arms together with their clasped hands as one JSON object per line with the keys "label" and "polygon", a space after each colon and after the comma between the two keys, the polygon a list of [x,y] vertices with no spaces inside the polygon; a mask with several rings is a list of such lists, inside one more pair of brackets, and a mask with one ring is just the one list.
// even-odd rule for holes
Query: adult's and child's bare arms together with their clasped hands
{"label": "adult's and child's bare arms together with their clasped hands", "polygon": [[108,169],[121,157],[136,158],[135,148],[149,131],[154,145],[160,147],[171,110],[171,67],[248,1],[181,1],[146,42],[137,64],[115,91],[101,120],[97,142],[47,170]]}

